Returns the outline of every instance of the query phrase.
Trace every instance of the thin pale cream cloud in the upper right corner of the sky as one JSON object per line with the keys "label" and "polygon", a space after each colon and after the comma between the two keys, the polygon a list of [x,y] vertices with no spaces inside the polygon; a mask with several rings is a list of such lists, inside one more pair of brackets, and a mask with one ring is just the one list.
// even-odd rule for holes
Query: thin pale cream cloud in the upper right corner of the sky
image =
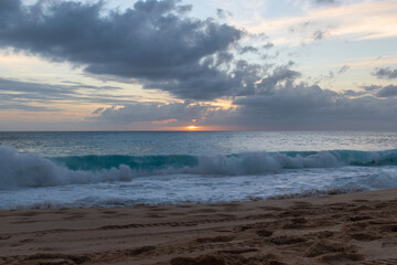
{"label": "thin pale cream cloud in the upper right corner of the sky", "polygon": [[[278,18],[264,17],[262,10],[255,7],[247,10],[247,7],[238,3],[242,12],[251,13],[251,19],[234,20],[249,32],[266,32],[275,44],[289,46],[315,41],[313,33],[318,30],[325,31],[329,39],[343,38],[347,41],[397,35],[396,1],[339,1],[340,4],[337,1],[320,2],[312,1],[313,4],[304,6],[301,12]],[[291,28],[294,32],[290,31]]]}

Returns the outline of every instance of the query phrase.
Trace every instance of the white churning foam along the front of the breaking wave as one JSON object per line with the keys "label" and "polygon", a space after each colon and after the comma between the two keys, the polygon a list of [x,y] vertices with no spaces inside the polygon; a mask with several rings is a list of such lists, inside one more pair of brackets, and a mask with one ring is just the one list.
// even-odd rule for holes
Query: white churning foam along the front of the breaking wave
{"label": "white churning foam along the front of the breaking wave", "polygon": [[[83,160],[83,158],[82,158]],[[118,165],[110,169],[71,170],[35,153],[19,153],[17,149],[0,146],[0,189],[84,184],[101,181],[128,181],[135,177],[158,174],[260,174],[285,168],[330,168],[340,162],[330,152],[309,157],[288,157],[283,153],[243,153],[238,156],[197,157],[193,167],[164,165],[154,169],[131,169]]]}

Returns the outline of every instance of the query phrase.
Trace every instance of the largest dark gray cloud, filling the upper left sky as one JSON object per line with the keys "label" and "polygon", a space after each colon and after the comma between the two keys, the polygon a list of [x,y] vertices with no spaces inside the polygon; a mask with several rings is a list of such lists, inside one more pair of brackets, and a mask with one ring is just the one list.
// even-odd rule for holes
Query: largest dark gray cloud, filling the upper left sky
{"label": "largest dark gray cloud, filling the upper left sky", "polygon": [[147,0],[107,12],[101,1],[2,0],[0,46],[71,62],[89,74],[137,78],[180,98],[213,99],[244,89],[251,73],[236,77],[234,61],[222,54],[245,33],[214,19],[190,18],[191,8]]}

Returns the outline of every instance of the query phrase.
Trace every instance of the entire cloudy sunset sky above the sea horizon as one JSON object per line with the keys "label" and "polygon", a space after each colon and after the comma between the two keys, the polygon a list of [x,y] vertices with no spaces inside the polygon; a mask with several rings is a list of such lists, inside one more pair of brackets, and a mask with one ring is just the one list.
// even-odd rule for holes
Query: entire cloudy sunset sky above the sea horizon
{"label": "entire cloudy sunset sky above the sea horizon", "polygon": [[397,131],[395,0],[0,0],[0,130]]}

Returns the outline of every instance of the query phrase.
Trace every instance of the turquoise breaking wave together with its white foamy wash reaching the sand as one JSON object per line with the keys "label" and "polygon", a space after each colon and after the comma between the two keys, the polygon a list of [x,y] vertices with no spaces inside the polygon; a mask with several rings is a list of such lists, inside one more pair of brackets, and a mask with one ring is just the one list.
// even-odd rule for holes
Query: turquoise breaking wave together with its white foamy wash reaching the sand
{"label": "turquoise breaking wave together with its white foamy wash reaching the sand", "polygon": [[228,202],[391,187],[396,150],[54,159],[0,146],[0,209]]}

